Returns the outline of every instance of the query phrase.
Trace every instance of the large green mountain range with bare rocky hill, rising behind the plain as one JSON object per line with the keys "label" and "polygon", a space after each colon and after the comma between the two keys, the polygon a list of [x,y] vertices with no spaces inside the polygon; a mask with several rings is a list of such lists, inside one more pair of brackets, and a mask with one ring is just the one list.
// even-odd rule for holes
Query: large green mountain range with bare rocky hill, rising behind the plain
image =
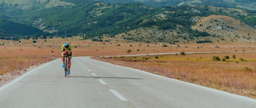
{"label": "large green mountain range with bare rocky hill, rising behind the plain", "polygon": [[[236,39],[243,41],[240,39],[253,39],[250,35],[256,35],[253,32],[256,26],[256,11],[214,6],[181,5],[153,8],[137,3],[111,4],[92,0],[48,0],[40,2],[30,10],[23,10],[19,4],[1,3],[0,11],[2,19],[44,31],[44,33],[38,31],[37,35],[20,34],[22,38],[25,35],[32,38],[39,37],[38,35],[68,37],[78,35],[83,39],[104,36],[129,41],[175,44],[177,42],[211,42],[220,37],[223,39],[245,37]],[[213,20],[203,20],[212,15],[216,15],[212,18]],[[217,16],[228,17],[229,20],[222,21],[221,17]],[[233,24],[235,21],[241,23],[238,24],[241,28],[233,26],[236,25]],[[215,30],[214,27],[221,28]],[[244,36],[245,33],[241,33],[242,30],[250,35],[246,33]],[[3,34],[7,33],[5,31]],[[220,31],[224,33],[218,34]],[[225,34],[225,31],[230,33]]]}

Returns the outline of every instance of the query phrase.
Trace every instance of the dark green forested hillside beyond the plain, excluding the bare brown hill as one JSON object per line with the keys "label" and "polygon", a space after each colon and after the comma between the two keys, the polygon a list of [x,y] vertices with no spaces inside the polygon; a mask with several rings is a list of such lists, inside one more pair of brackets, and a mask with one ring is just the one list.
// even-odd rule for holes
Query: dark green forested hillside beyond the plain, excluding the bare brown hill
{"label": "dark green forested hillside beyond the plain, excluding the bare brown hill", "polygon": [[[51,2],[51,3],[49,3]],[[66,3],[66,5],[60,5]],[[256,12],[217,8],[212,6],[164,6],[152,8],[136,3],[109,4],[91,0],[54,0],[41,2],[32,10],[23,10],[19,4],[1,3],[0,18],[8,19],[15,27],[2,28],[3,34],[36,37],[37,35],[83,36],[92,39],[99,36],[115,37],[138,28],[156,27],[156,30],[175,31],[185,39],[211,36],[214,33],[191,29],[198,21],[195,17],[225,15],[241,20],[250,26],[256,26]],[[4,20],[2,20],[4,21]],[[2,27],[6,26],[0,23]],[[45,31],[42,33],[40,28]],[[8,26],[7,26],[8,27]],[[11,26],[9,26],[11,27]],[[19,31],[19,28],[22,31]],[[17,30],[17,31],[15,31]],[[10,36],[10,35],[7,35]],[[127,38],[127,37],[126,37]],[[131,38],[130,38],[131,39]]]}

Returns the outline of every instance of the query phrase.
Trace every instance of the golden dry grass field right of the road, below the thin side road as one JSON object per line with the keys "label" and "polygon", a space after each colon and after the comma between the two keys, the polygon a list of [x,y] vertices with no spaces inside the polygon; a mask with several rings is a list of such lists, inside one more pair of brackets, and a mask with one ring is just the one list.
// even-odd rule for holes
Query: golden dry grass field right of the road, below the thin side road
{"label": "golden dry grass field right of the road, below the thin side road", "polygon": [[[213,61],[213,55],[230,58]],[[255,53],[213,53],[101,57],[99,60],[256,99],[254,56]]]}

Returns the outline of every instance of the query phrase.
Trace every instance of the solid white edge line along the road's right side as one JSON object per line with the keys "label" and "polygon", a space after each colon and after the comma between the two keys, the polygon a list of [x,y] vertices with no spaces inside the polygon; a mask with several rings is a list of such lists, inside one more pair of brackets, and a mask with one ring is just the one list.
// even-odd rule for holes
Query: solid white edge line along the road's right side
{"label": "solid white edge line along the road's right side", "polygon": [[[94,59],[91,59],[91,60],[94,60]],[[103,62],[103,61],[99,61],[99,60],[95,60],[95,61]],[[107,62],[103,62],[103,63],[111,64],[111,63],[107,63]],[[124,67],[124,68],[128,68],[128,69],[133,69],[133,68],[129,68],[129,67],[125,67],[125,66],[120,66],[120,65],[116,65],[116,64],[111,64],[111,65],[115,65],[115,66],[119,66],[119,67]],[[137,70],[137,71],[142,72],[142,73],[147,73],[147,74],[150,74],[150,75],[153,75],[153,76],[156,76],[156,77],[161,77],[161,78],[169,79],[169,80],[172,80],[172,81],[177,81],[177,82],[185,83],[185,84],[188,84],[188,85],[193,85],[193,86],[196,86],[196,87],[199,87],[199,88],[212,90],[212,91],[215,91],[215,92],[218,92],[218,93],[228,94],[230,96],[234,96],[234,97],[241,98],[241,99],[246,99],[248,101],[256,102],[256,99],[253,99],[253,98],[248,98],[248,97],[245,97],[245,96],[241,96],[241,95],[237,95],[237,94],[233,94],[233,93],[228,93],[228,92],[225,92],[225,91],[220,91],[220,90],[217,90],[217,89],[212,89],[212,88],[209,88],[209,87],[205,87],[205,86],[201,86],[201,85],[196,85],[196,84],[185,82],[185,81],[180,81],[180,80],[176,80],[176,79],[172,79],[172,78],[156,75],[156,74],[149,73],[149,72],[146,72],[146,71],[142,71],[142,70],[139,70],[139,69],[133,69],[133,70]]]}

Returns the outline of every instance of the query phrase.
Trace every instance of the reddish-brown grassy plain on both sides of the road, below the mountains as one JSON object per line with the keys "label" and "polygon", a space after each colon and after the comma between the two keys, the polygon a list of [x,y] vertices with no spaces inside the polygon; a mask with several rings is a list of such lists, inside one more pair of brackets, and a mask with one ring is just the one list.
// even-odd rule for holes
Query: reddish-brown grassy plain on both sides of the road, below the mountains
{"label": "reddish-brown grassy plain on both sides of the road, below the mountains", "polygon": [[[38,65],[59,58],[62,44],[68,42],[73,46],[72,56],[98,55],[105,58],[104,56],[177,53],[178,55],[159,55],[158,59],[156,56],[144,56],[144,59],[136,56],[136,58],[112,57],[112,59],[102,60],[256,99],[255,53],[248,53],[256,52],[255,43],[220,40],[219,42],[205,44],[194,42],[147,44],[122,39],[103,39],[109,40],[109,42],[93,42],[92,40],[80,39],[82,38],[37,39],[36,43],[32,43],[32,39],[21,39],[20,42],[0,40],[0,67],[5,68],[1,69],[0,74],[9,72],[19,74],[19,70],[26,70],[20,68],[19,65]],[[162,47],[164,44],[167,47]],[[129,50],[130,52],[127,52]],[[181,56],[180,52],[231,53],[187,54]],[[232,58],[233,55],[236,56],[236,59]],[[53,59],[52,56],[54,56]],[[212,61],[213,56],[220,57],[220,61]],[[224,56],[229,56],[229,59],[222,61]],[[146,60],[145,57],[148,59]],[[27,64],[30,61],[33,62]]]}

